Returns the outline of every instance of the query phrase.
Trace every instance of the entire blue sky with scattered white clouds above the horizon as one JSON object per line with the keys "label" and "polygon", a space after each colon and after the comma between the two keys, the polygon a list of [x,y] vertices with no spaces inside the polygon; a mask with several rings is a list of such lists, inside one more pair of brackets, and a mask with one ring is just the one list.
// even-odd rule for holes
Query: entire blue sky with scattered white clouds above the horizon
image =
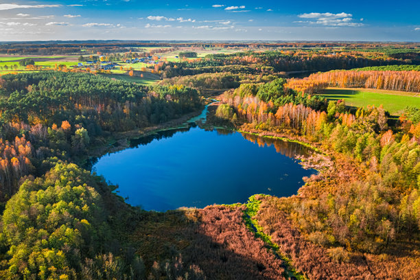
{"label": "entire blue sky with scattered white clouds above the horizon", "polygon": [[420,1],[0,0],[0,41],[420,41]]}

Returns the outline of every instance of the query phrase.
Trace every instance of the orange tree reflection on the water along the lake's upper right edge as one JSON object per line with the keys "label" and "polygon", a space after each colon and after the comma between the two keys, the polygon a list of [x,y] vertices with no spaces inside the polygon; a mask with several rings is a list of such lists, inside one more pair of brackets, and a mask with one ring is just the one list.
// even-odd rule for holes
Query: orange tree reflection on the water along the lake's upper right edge
{"label": "orange tree reflection on the water along the lake's upper right edge", "polygon": [[244,139],[253,143],[257,143],[259,147],[265,147],[266,145],[267,147],[270,147],[271,145],[274,145],[276,152],[288,156],[292,159],[296,158],[296,156],[298,155],[306,155],[310,152],[310,148],[307,148],[304,145],[301,145],[296,142],[288,142],[280,139],[259,137],[257,135],[250,135],[248,133],[241,134],[242,137],[244,137]]}

